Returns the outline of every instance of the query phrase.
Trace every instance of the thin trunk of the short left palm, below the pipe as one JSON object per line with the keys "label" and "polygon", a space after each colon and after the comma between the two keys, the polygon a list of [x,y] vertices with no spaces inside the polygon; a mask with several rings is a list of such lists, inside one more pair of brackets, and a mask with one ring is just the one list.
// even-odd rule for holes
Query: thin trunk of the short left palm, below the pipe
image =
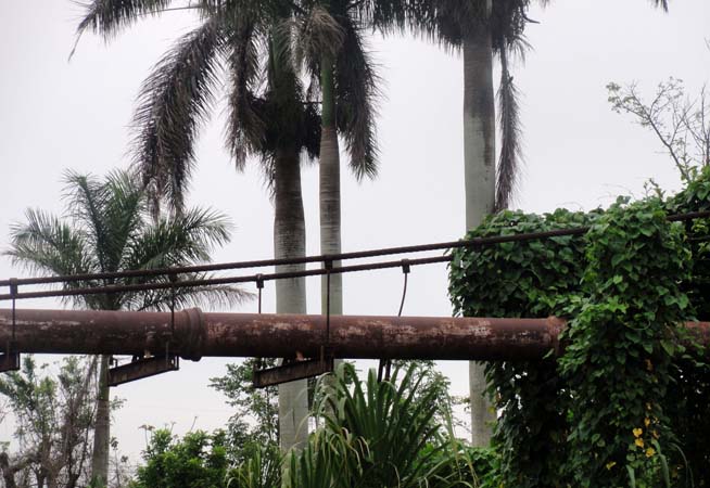
{"label": "thin trunk of the short left palm, below the pipe", "polygon": [[109,448],[111,441],[110,359],[111,356],[101,356],[101,365],[99,367],[97,422],[93,426],[93,453],[91,455],[91,479],[97,486],[106,486],[109,480]]}

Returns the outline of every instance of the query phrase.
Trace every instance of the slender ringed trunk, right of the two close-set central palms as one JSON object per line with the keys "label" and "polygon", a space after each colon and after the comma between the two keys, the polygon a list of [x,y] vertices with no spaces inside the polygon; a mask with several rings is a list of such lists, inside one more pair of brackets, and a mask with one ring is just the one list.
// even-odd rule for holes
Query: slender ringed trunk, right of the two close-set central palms
{"label": "slender ringed trunk, right of the two close-set central palms", "polygon": [[[319,206],[320,206],[320,253],[340,254],[341,248],[341,211],[340,211],[340,147],[335,126],[335,95],[333,63],[330,56],[324,56],[320,70],[322,90],[322,113],[320,132],[319,160]],[[340,266],[334,261],[333,266]],[[321,313],[328,311],[328,279],[321,278]],[[330,314],[343,313],[342,274],[330,277]]]}

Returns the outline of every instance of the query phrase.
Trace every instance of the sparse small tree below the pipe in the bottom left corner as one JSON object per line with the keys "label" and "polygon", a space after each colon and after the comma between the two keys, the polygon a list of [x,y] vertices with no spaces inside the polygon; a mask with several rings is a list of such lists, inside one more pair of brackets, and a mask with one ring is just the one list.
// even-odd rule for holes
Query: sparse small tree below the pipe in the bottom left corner
{"label": "sparse small tree below the pipe in the bottom left corner", "polygon": [[[16,422],[17,452],[0,453],[5,488],[85,486],[91,458],[98,357],[69,357],[59,374],[26,356],[18,372],[0,377]],[[20,481],[18,481],[20,479]]]}

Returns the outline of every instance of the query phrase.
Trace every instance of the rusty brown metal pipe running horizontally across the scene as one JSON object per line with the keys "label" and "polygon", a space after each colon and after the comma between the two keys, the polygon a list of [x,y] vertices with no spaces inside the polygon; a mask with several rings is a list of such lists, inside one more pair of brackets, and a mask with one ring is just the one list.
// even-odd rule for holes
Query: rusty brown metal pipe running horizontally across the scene
{"label": "rusty brown metal pipe running horizontally across the scene", "polygon": [[[710,323],[688,324],[703,343]],[[540,359],[558,349],[565,322],[548,319],[17,310],[14,351],[161,354],[211,357],[317,357],[327,346],[351,359]],[[12,313],[0,310],[0,347],[12,339]]]}

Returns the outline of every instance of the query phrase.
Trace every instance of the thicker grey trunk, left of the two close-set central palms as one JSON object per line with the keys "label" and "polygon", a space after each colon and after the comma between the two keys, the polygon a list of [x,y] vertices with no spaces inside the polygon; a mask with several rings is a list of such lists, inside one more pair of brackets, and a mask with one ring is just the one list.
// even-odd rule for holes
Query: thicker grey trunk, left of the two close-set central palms
{"label": "thicker grey trunk, left of the two close-set central palms", "polygon": [[[301,196],[299,151],[279,149],[275,159],[274,255],[276,259],[303,257],[306,252],[306,226]],[[305,265],[277,266],[276,272],[304,269]],[[304,278],[276,281],[276,312],[306,313]],[[307,441],[307,386],[306,380],[279,385],[279,442],[283,452]]]}

